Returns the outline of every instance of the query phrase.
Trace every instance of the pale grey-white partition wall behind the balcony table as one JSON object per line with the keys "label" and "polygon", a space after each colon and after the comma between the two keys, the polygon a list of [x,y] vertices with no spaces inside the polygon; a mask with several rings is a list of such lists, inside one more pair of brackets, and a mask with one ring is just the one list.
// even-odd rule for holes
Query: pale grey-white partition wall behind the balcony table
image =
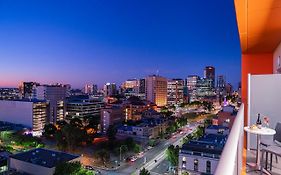
{"label": "pale grey-white partition wall behind the balcony table", "polygon": [[[249,81],[248,125],[255,124],[260,113],[261,119],[268,116],[270,127],[275,128],[281,122],[281,74],[251,75]],[[272,137],[262,137],[267,139]],[[248,148],[256,148],[256,135],[248,134]]]}

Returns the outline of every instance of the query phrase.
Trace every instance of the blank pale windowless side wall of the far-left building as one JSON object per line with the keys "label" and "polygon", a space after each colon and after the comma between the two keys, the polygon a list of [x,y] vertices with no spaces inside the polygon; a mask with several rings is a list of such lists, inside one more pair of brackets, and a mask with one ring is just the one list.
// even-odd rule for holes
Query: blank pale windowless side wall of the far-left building
{"label": "blank pale windowless side wall of the far-left building", "polygon": [[0,120],[32,128],[32,102],[0,100]]}

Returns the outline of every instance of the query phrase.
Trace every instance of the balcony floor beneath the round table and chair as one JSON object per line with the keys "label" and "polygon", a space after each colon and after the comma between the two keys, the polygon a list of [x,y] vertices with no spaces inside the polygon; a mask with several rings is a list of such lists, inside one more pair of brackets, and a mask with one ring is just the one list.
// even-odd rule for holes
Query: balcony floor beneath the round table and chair
{"label": "balcony floor beneath the round table and chair", "polygon": [[[256,152],[255,151],[247,151],[247,163],[248,162],[255,162],[256,160]],[[247,166],[247,175],[257,175],[260,174],[260,172],[248,172],[250,168]],[[281,158],[278,158],[278,163],[276,163],[275,156],[273,156],[273,161],[272,161],[272,175],[281,175]]]}

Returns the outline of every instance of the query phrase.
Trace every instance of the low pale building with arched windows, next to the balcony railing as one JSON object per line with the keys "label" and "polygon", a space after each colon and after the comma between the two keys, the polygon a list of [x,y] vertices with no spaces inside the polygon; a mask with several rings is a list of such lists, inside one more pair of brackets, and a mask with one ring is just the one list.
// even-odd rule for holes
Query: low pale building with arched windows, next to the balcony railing
{"label": "low pale building with arched windows, next to the balcony railing", "polygon": [[179,152],[179,175],[214,174],[226,140],[226,135],[207,134],[185,143]]}

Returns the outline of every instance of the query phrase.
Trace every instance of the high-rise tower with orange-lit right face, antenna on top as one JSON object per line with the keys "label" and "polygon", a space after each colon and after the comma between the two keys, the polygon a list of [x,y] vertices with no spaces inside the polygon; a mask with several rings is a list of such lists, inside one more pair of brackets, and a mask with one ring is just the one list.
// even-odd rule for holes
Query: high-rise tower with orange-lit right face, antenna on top
{"label": "high-rise tower with orange-lit right face, antenna on top", "polygon": [[145,80],[146,100],[157,106],[167,105],[167,79],[158,75],[148,76]]}

